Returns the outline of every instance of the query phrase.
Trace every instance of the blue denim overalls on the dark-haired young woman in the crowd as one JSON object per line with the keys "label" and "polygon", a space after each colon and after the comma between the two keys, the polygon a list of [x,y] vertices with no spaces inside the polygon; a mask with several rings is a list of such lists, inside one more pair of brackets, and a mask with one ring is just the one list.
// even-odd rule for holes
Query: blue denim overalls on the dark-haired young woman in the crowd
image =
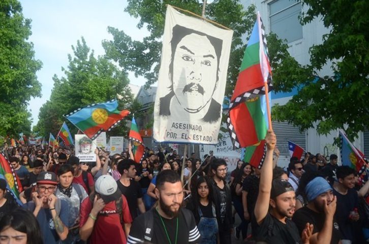
{"label": "blue denim overalls on the dark-haired young woman in the crowd", "polygon": [[218,222],[214,204],[211,206],[213,218],[206,218],[202,216],[201,208],[198,207],[200,216],[197,228],[201,234],[201,241],[199,244],[216,244],[218,234]]}

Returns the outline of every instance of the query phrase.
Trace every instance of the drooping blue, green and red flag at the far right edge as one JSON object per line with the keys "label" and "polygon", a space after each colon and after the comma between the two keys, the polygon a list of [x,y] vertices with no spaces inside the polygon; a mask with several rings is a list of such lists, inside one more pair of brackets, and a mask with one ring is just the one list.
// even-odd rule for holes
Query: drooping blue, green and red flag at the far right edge
{"label": "drooping blue, green and red flag at the far right edge", "polygon": [[340,141],[341,141],[341,160],[342,165],[347,165],[358,172],[361,176],[365,171],[367,160],[360,150],[358,150],[347,138],[345,132],[340,129]]}

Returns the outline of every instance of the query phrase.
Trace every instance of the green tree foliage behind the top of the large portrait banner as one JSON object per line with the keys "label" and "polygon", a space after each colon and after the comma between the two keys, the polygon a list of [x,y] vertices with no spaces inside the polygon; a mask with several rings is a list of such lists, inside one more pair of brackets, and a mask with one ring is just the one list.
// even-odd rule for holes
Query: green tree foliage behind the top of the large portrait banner
{"label": "green tree foliage behind the top of the large portrait banner", "polygon": [[[143,76],[147,80],[146,86],[158,80],[167,4],[201,15],[202,1],[199,3],[196,0],[129,0],[126,11],[131,16],[139,18],[137,27],[143,28],[145,26],[150,35],[142,42],[133,41],[124,31],[108,27],[113,40],[103,42],[107,56],[117,61],[121,67],[134,72],[136,76]],[[205,17],[234,31],[228,66],[226,93],[229,94],[232,92],[238,76],[245,48],[244,39],[248,36],[246,33],[251,31],[256,18],[255,7],[250,6],[248,10],[244,10],[238,1],[221,0],[206,6]]]}

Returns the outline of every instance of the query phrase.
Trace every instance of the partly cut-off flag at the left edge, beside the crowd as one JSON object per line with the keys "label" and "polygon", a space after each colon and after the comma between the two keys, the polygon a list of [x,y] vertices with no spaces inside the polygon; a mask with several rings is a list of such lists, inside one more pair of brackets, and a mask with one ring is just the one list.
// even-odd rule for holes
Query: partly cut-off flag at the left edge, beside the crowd
{"label": "partly cut-off flag at the left edge, beside the crowd", "polygon": [[14,172],[9,160],[3,153],[0,154],[0,178],[7,181],[7,189],[17,201],[18,205],[23,205],[19,200],[19,193],[23,191],[23,187],[20,184],[20,180]]}

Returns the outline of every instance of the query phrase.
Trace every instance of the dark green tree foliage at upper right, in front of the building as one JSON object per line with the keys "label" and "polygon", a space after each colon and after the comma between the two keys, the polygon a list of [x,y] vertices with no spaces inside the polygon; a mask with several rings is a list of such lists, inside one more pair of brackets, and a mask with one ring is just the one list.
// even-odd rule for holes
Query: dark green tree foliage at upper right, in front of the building
{"label": "dark green tree foliage at upper right, in front of the building", "polygon": [[[290,74],[274,76],[278,89],[299,89],[287,104],[275,106],[273,112],[276,119],[290,121],[302,129],[317,122],[318,132],[323,134],[346,128],[353,138],[367,128],[369,121],[369,15],[366,13],[369,2],[302,2],[310,8],[302,14],[301,23],[321,18],[330,31],[323,36],[322,44],[310,48],[310,65],[297,65],[296,72],[291,69]],[[319,77],[317,72],[330,63],[332,75]],[[288,70],[288,67],[284,69]]]}

